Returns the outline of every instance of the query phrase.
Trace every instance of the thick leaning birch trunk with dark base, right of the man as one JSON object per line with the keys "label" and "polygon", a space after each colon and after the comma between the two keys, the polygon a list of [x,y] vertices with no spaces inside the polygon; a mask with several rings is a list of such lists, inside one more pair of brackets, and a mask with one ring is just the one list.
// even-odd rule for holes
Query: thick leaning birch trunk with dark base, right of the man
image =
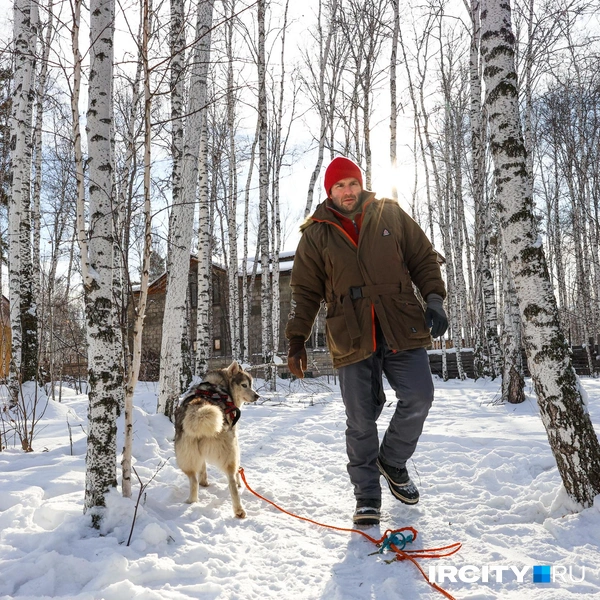
{"label": "thick leaning birch trunk with dark base, right of the man", "polygon": [[523,320],[528,365],[567,494],[588,507],[600,493],[600,444],[560,328],[543,246],[536,233],[520,128],[510,5],[483,0],[481,22],[499,220]]}

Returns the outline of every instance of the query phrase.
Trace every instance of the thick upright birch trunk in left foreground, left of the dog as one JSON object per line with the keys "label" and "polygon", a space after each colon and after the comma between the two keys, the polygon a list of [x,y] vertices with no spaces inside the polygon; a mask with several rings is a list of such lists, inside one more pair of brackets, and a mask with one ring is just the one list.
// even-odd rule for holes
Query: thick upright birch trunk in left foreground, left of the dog
{"label": "thick upright birch trunk in left foreground, left of the dog", "polygon": [[88,340],[88,437],[84,510],[99,527],[106,494],[116,481],[120,336],[113,301],[117,209],[114,185],[114,0],[90,3],[90,74],[86,121],[89,165],[89,271],[84,281]]}

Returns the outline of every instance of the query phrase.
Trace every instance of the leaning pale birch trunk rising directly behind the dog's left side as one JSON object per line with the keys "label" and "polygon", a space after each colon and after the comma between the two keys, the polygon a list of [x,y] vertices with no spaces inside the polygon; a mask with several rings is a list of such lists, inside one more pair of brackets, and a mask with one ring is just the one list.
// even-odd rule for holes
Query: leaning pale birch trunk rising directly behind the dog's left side
{"label": "leaning pale birch trunk rising directly behind the dog's left side", "polygon": [[167,295],[160,353],[157,411],[171,417],[181,393],[182,340],[190,268],[194,205],[198,189],[198,157],[202,113],[207,99],[208,64],[214,0],[198,2],[183,143],[181,197],[173,199],[169,218]]}

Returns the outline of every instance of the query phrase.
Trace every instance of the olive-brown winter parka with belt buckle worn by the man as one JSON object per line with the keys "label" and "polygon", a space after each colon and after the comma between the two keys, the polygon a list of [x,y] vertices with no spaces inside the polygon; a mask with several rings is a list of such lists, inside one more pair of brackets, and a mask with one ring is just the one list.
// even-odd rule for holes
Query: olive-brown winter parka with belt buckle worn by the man
{"label": "olive-brown winter parka with belt buckle worn by the man", "polygon": [[286,337],[306,341],[325,300],[327,345],[336,368],[375,351],[375,315],[390,349],[429,346],[412,284],[425,299],[431,293],[446,296],[438,254],[419,225],[395,200],[378,200],[363,190],[361,201],[358,245],[326,200],[301,227],[292,269]]}

